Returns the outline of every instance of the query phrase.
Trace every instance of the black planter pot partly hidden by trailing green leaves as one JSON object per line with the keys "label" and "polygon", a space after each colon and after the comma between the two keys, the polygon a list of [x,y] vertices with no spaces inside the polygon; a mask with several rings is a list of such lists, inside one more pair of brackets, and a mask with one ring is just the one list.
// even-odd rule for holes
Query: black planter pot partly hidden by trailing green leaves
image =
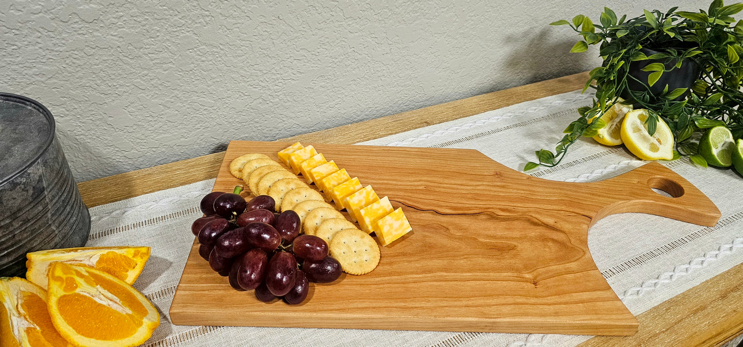
{"label": "black planter pot partly hidden by trailing green leaves", "polygon": [[[642,48],[640,49],[640,51],[645,53],[646,56],[651,56],[655,53],[661,53],[648,48]],[[644,92],[647,91],[647,88],[650,88],[650,92],[652,93],[652,95],[655,97],[659,97],[663,93],[663,89],[666,88],[666,85],[668,85],[668,91],[672,91],[675,88],[688,88],[684,94],[681,94],[681,96],[674,99],[674,101],[684,100],[690,93],[691,86],[692,84],[694,84],[694,81],[699,78],[701,69],[699,65],[692,59],[684,59],[684,61],[681,62],[681,68],[675,67],[675,60],[672,60],[668,63],[664,63],[665,61],[666,59],[647,59],[639,60],[637,62],[631,62],[629,64],[629,75],[642,82],[637,82],[637,80],[632,79],[631,77],[627,77],[627,85],[629,86],[629,89],[632,91]],[[661,78],[658,79],[658,81],[655,82],[655,84],[651,87],[647,84],[647,80],[649,75],[654,71],[642,71],[642,69],[654,62],[660,62],[661,64],[664,64],[666,70],[672,70],[663,72]],[[629,98],[629,94],[624,91],[621,97],[627,99]]]}

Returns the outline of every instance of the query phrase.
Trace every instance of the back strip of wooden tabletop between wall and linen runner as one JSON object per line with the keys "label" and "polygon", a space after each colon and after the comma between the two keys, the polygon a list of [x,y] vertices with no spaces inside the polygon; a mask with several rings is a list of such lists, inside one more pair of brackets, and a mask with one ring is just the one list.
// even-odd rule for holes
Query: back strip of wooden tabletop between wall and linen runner
{"label": "back strip of wooden tabletop between wall and linen runner", "polygon": [[[586,80],[588,80],[588,72],[582,72],[347,126],[299,134],[281,140],[305,141],[308,143],[359,143],[418,129],[422,126],[469,117],[529,100],[536,100],[540,97],[567,93],[583,88]],[[223,157],[224,152],[203,155],[197,158],[80,182],[77,187],[80,189],[82,201],[88,207],[94,207],[149,192],[157,192],[158,190],[215,178]]]}

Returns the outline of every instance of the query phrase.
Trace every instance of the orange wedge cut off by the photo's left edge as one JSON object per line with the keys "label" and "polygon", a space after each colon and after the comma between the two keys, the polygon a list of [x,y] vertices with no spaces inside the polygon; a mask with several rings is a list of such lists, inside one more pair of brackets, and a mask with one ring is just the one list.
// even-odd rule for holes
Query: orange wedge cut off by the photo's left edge
{"label": "orange wedge cut off by the photo's left edge", "polygon": [[18,277],[0,278],[0,346],[72,347],[56,332],[38,285]]}

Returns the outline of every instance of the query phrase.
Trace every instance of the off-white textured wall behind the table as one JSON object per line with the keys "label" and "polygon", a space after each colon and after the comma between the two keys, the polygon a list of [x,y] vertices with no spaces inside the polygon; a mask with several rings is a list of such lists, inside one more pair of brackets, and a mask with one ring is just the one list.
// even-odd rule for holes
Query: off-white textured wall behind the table
{"label": "off-white textured wall behind the table", "polygon": [[708,3],[0,0],[0,91],[85,181],[586,71],[548,23]]}

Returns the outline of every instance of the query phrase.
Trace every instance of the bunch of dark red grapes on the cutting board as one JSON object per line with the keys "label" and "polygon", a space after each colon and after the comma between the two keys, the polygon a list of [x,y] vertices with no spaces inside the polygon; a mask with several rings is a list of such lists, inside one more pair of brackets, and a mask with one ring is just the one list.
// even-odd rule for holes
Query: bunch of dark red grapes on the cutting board
{"label": "bunch of dark red grapes on the cutting board", "polygon": [[204,196],[204,217],[191,225],[201,244],[199,255],[212,270],[229,276],[232,288],[255,289],[262,302],[281,297],[297,305],[307,299],[309,282],[328,283],[340,276],[340,263],[328,256],[325,240],[299,235],[296,212],[275,213],[276,202],[270,196],[246,202],[240,191],[238,186],[232,193]]}

